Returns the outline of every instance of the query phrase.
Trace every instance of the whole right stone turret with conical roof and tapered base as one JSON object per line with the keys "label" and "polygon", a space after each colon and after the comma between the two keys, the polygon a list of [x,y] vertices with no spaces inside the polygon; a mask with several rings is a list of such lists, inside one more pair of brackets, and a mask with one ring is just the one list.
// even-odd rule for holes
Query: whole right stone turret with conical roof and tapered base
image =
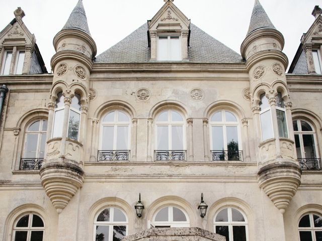
{"label": "whole right stone turret with conical roof and tapered base", "polygon": [[295,160],[292,103],[285,76],[288,60],[283,47],[283,35],[256,0],[240,51],[250,77],[258,183],[281,213],[295,195],[301,178]]}

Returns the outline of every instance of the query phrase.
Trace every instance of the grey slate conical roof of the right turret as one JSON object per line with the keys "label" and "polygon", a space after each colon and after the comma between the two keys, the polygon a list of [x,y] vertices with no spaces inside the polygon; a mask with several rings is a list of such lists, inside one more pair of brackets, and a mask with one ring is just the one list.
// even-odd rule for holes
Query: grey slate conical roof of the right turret
{"label": "grey slate conical roof of the right turret", "polygon": [[248,29],[247,35],[252,33],[254,30],[261,28],[272,28],[275,29],[271,20],[267,16],[265,10],[258,0],[255,0],[254,9],[251,17],[250,27]]}

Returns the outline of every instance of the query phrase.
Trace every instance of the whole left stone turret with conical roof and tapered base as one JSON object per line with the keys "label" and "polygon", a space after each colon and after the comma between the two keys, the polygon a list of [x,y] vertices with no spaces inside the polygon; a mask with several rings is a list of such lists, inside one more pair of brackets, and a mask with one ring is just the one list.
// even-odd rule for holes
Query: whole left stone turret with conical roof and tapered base
{"label": "whole left stone turret with conical roof and tapered base", "polygon": [[60,213],[83,185],[89,81],[96,55],[82,0],[53,40],[53,84],[48,103],[46,154],[41,183]]}

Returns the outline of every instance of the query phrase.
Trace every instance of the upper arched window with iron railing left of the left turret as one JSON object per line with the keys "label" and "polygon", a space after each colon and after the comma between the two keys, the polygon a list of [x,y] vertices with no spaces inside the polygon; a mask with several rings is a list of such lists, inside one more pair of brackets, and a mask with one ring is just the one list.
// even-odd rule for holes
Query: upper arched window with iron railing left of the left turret
{"label": "upper arched window with iron railing left of the left turret", "polygon": [[44,158],[47,121],[41,119],[29,125],[25,132],[25,148],[20,169],[40,169]]}

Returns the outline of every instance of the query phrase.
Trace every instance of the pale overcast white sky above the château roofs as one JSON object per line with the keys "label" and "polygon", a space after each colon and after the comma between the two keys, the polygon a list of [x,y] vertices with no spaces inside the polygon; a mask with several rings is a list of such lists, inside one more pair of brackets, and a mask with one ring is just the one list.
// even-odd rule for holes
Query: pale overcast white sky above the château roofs
{"label": "pale overcast white sky above the ch\u00e2teau roofs", "polygon": [[[175,0],[174,4],[191,23],[240,54],[240,44],[248,31],[255,0]],[[47,71],[55,54],[54,36],[65,25],[78,0],[0,0],[0,30],[12,19],[17,7],[26,16],[23,22],[35,35]],[[311,12],[322,0],[260,0],[273,25],[285,39],[283,52],[289,65],[303,33],[314,22]],[[112,47],[153,18],[164,0],[83,0],[89,29],[97,54]]]}

